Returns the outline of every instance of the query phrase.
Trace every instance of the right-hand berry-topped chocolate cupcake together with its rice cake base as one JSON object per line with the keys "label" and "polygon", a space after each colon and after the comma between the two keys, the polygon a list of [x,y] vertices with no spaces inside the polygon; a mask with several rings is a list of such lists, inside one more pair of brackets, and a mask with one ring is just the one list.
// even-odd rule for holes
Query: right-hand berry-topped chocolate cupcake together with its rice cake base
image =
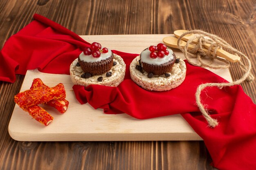
{"label": "right-hand berry-topped chocolate cupcake together with its rice cake base", "polygon": [[132,81],[149,91],[176,88],[186,77],[186,63],[165,44],[150,46],[130,64]]}

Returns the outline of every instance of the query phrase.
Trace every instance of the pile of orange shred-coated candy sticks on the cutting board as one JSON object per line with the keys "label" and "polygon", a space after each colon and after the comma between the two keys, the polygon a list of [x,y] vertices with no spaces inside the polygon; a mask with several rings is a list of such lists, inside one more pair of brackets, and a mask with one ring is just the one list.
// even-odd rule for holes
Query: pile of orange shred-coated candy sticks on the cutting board
{"label": "pile of orange shred-coated candy sticks on the cutting board", "polygon": [[[14,102],[23,110],[27,111],[34,119],[47,126],[53,117],[38,104],[47,103],[54,106],[61,113],[67,110],[69,102],[65,100],[65,88],[62,83],[49,88],[41,79],[34,79],[31,89],[20,92],[14,96]],[[66,107],[64,107],[65,105]]]}

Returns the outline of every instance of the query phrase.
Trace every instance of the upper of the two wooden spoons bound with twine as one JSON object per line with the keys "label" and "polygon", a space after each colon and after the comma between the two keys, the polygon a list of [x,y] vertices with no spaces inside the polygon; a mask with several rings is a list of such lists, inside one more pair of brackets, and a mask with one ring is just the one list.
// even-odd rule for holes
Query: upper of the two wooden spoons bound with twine
{"label": "upper of the two wooden spoons bound with twine", "polygon": [[[175,37],[180,38],[180,35],[182,35],[185,32],[187,32],[187,30],[176,30],[176,31],[174,31],[174,35],[175,35]],[[188,41],[189,38],[192,38],[192,36],[193,36],[193,34],[186,35],[186,36],[182,37],[182,40]],[[192,42],[194,44],[198,44],[198,39],[195,39]],[[203,45],[203,47],[206,49],[209,49],[210,46],[211,46],[210,44]],[[215,48],[212,48],[211,51],[213,51],[214,49]],[[229,60],[230,62],[233,62],[233,63],[241,60],[241,58],[239,56],[230,54],[227,51],[222,50],[222,49],[217,49],[216,54],[220,57],[225,58],[226,60]]]}

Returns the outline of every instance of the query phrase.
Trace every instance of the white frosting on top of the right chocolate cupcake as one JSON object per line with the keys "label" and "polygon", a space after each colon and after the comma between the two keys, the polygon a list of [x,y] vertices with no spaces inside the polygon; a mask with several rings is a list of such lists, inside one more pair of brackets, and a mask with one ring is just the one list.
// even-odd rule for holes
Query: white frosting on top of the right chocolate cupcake
{"label": "white frosting on top of the right chocolate cupcake", "polygon": [[142,51],[140,54],[140,59],[141,62],[147,63],[147,64],[154,64],[154,65],[161,65],[164,64],[166,62],[169,62],[171,60],[173,60],[173,51],[171,49],[167,49],[169,51],[168,55],[164,55],[163,58],[151,58],[150,57],[150,51],[147,48],[146,50]]}

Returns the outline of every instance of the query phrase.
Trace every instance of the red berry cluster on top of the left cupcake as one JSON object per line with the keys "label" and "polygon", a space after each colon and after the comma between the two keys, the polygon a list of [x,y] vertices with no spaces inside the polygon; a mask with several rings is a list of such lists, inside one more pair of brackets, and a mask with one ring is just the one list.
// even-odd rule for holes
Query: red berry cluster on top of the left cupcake
{"label": "red berry cluster on top of the left cupcake", "polygon": [[101,56],[101,53],[108,53],[108,49],[104,47],[101,49],[101,44],[98,42],[93,42],[91,47],[85,47],[83,50],[84,55],[92,55],[94,58]]}

